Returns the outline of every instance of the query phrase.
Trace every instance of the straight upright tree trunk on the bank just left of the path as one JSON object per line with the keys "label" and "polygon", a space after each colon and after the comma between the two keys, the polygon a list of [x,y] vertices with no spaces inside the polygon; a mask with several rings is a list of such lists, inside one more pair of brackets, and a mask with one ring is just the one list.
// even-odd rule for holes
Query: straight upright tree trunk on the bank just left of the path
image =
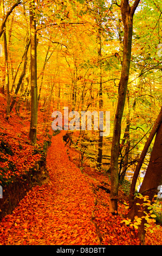
{"label": "straight upright tree trunk on the bank just left of the path", "polygon": [[30,2],[30,62],[31,62],[31,120],[29,138],[36,143],[37,132],[37,40],[35,21],[35,1]]}

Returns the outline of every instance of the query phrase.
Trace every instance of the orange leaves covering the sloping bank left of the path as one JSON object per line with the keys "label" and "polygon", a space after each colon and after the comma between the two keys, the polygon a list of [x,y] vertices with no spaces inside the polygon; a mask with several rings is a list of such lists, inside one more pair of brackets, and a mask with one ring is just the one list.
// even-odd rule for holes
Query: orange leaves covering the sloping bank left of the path
{"label": "orange leaves covering the sloping bank left of the path", "polygon": [[[4,103],[1,95],[0,102]],[[31,168],[35,167],[36,162],[41,159],[39,151],[35,151],[43,148],[44,138],[43,135],[40,135],[42,132],[42,128],[40,128],[38,131],[37,147],[34,148],[30,145],[28,138],[30,127],[29,121],[18,117],[15,113],[11,114],[9,121],[6,121],[2,118],[2,113],[0,114],[0,143],[3,139],[4,147],[9,147],[12,151],[11,154],[10,150],[0,150],[0,184],[3,186],[8,182],[12,182],[15,177],[22,176]],[[25,117],[29,118],[29,113],[25,113]],[[38,122],[40,122],[40,120],[38,120]]]}

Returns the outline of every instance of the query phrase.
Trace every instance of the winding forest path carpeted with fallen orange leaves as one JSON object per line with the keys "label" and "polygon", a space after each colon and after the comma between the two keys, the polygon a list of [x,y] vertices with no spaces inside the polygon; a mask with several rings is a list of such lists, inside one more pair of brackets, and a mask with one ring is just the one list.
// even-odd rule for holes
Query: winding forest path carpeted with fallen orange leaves
{"label": "winding forest path carpeted with fallen orange leaves", "polygon": [[48,149],[48,184],[28,192],[0,224],[0,245],[100,245],[92,222],[94,193],[70,162],[61,131]]}

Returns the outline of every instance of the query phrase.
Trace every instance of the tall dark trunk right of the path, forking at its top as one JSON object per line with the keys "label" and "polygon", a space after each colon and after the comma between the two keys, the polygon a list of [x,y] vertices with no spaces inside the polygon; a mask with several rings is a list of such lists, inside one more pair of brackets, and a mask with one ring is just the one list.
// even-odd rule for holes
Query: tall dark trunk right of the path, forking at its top
{"label": "tall dark trunk right of the path, forking at its top", "polygon": [[122,59],[121,77],[119,82],[119,97],[114,118],[114,130],[111,149],[111,194],[109,211],[112,214],[118,212],[118,159],[120,152],[121,119],[124,112],[127,83],[129,78],[129,66],[131,62],[133,15],[139,2],[140,0],[135,0],[134,4],[130,7],[128,0],[121,0],[121,16],[122,22],[124,23],[124,53]]}

